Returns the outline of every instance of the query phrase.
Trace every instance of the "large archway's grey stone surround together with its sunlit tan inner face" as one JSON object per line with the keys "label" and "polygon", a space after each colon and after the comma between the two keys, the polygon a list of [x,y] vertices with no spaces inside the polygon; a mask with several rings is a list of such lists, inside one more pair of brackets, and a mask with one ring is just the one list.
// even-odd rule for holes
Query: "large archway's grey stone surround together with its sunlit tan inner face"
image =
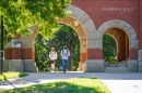
{"label": "large archway's grey stone surround together with its sunlit tan inner face", "polygon": [[[94,44],[95,42],[95,34],[96,34],[96,28],[91,19],[91,17],[81,9],[78,6],[74,6],[70,4],[67,9],[67,11],[72,11],[72,14],[70,16],[67,16],[58,23],[63,23],[70,27],[72,27],[76,34],[80,37],[81,41],[81,63],[79,64],[79,69],[78,70],[85,70],[85,62],[88,59],[90,55],[87,55],[87,50],[96,48]],[[76,24],[76,26],[75,26]],[[35,38],[36,35],[38,34],[38,28],[36,26],[32,27],[33,30],[33,49],[34,49],[34,43],[35,43]],[[35,51],[35,50],[33,50]],[[34,52],[35,53],[35,52]],[[90,67],[86,67],[86,69]]]}

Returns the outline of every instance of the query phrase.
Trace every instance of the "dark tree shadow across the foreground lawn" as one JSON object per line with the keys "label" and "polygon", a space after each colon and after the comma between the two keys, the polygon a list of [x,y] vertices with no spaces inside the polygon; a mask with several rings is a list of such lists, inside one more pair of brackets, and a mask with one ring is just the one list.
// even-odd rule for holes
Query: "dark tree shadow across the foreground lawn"
{"label": "dark tree shadow across the foreground lawn", "polygon": [[[87,83],[86,83],[87,84]],[[68,82],[32,85],[29,88],[14,89],[1,93],[103,93],[94,88],[75,85]]]}

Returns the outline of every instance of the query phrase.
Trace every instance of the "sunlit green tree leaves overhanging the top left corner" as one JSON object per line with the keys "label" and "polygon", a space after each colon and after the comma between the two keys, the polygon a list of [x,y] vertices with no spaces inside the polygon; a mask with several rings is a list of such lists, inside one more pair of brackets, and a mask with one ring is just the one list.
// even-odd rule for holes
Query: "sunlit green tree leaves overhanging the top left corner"
{"label": "sunlit green tree leaves overhanging the top left corner", "polygon": [[29,34],[28,27],[39,26],[39,34],[50,38],[60,27],[57,21],[68,14],[64,11],[71,0],[1,0],[0,15],[9,36]]}

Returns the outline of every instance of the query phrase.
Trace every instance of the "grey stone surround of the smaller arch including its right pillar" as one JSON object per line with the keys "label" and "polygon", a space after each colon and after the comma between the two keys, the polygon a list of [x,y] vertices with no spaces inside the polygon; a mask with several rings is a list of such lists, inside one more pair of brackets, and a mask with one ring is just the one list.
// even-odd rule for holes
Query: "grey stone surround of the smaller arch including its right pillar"
{"label": "grey stone surround of the smaller arch including its right pillar", "polygon": [[129,71],[137,71],[138,66],[137,66],[137,54],[138,54],[138,50],[139,50],[139,40],[138,40],[138,36],[135,34],[135,30],[133,29],[133,27],[131,25],[129,25],[127,22],[125,21],[120,21],[120,19],[111,19],[108,21],[106,23],[104,23],[98,29],[97,32],[102,34],[102,38],[104,34],[110,29],[110,28],[120,28],[121,30],[123,30],[127,35],[128,35],[128,39],[129,39],[129,58],[127,62],[128,65],[128,70]]}

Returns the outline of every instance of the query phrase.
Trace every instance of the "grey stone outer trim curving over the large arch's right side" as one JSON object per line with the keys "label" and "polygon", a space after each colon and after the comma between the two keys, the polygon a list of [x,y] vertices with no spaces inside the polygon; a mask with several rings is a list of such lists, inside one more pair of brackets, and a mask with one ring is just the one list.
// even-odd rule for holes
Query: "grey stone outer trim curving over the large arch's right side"
{"label": "grey stone outer trim curving over the large arch's right side", "polygon": [[[88,44],[88,42],[92,42],[92,39],[96,38],[95,35],[97,34],[96,27],[93,21],[91,19],[91,17],[83,10],[72,4],[69,4],[66,10],[72,11],[71,16],[78,19],[81,23],[83,29],[85,30],[86,40],[87,40],[87,49],[96,48],[94,44],[92,45]],[[99,34],[97,34],[97,36],[99,36]]]}

